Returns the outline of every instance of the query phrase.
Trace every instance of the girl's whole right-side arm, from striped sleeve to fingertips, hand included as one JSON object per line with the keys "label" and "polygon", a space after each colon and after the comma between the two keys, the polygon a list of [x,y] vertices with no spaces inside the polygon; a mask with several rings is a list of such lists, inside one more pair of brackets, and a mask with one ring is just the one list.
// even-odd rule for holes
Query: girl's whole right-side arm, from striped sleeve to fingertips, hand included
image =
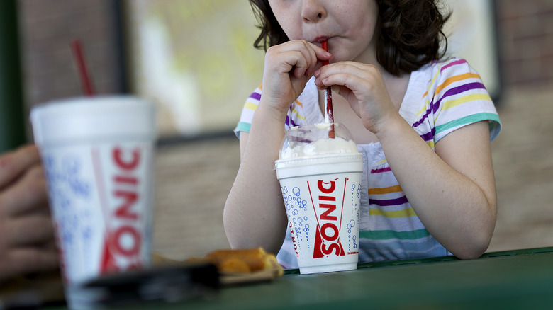
{"label": "girl's whole right-side arm, from striped sleeve to fingertips, hand included", "polygon": [[496,223],[496,188],[487,122],[440,139],[432,151],[399,115],[376,67],[330,64],[315,72],[319,88],[333,86],[376,134],[415,213],[432,236],[459,258],[488,248]]}

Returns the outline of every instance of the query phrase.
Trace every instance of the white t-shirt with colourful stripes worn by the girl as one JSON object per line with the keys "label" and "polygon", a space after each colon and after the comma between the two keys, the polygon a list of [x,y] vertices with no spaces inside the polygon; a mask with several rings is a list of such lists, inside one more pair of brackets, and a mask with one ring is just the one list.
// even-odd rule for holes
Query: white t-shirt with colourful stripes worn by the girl
{"label": "white t-shirt with colourful stripes worn by the girl", "polygon": [[[313,81],[291,104],[285,130],[324,122]],[[235,128],[237,135],[250,131],[259,98],[261,88],[247,99]],[[449,132],[481,120],[489,122],[491,139],[501,130],[496,108],[479,74],[459,58],[431,62],[413,71],[399,113],[432,149]],[[358,144],[357,148],[364,159],[359,263],[450,255],[418,219],[393,176],[380,143]],[[297,268],[289,234],[277,258],[285,268]]]}

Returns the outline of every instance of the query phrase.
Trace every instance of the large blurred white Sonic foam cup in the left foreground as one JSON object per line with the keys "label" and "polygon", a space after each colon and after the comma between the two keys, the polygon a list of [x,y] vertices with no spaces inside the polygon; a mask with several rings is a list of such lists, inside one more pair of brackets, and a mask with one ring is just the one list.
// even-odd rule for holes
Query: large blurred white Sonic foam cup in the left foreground
{"label": "large blurred white Sonic foam cup in the left foreground", "polygon": [[155,116],[155,105],[133,96],[68,98],[31,110],[72,309],[98,298],[84,282],[150,265]]}

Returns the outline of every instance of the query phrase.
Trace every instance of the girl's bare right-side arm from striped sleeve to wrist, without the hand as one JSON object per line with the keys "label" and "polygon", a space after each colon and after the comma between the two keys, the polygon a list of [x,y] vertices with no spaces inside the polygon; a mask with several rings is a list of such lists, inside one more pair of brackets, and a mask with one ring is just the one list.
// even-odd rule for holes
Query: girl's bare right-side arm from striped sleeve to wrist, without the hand
{"label": "girl's bare right-side arm from striped sleeve to wrist, without the hand", "polygon": [[447,134],[435,151],[401,117],[377,137],[430,234],[459,258],[481,256],[491,241],[497,212],[488,122]]}

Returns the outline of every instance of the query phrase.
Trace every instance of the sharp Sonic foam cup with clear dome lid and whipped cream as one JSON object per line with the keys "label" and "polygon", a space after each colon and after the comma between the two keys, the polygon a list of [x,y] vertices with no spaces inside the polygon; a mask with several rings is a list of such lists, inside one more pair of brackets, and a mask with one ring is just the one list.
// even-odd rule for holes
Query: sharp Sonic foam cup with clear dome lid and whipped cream
{"label": "sharp Sonic foam cup with clear dome lid and whipped cream", "polygon": [[357,269],[363,157],[346,127],[290,128],[275,169],[300,273]]}

